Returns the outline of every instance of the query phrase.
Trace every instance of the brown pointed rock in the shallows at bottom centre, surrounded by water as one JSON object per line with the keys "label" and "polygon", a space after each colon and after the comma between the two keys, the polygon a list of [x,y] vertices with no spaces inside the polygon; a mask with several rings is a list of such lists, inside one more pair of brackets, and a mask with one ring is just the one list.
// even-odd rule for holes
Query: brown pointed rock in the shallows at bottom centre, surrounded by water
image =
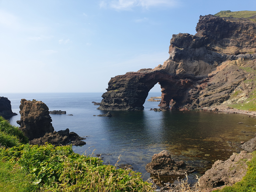
{"label": "brown pointed rock in the shallows at bottom centre, surrounded by water", "polygon": [[184,161],[175,162],[166,150],[154,154],[152,161],[146,165],[147,172],[159,175],[185,175],[185,172],[192,173],[194,170]]}

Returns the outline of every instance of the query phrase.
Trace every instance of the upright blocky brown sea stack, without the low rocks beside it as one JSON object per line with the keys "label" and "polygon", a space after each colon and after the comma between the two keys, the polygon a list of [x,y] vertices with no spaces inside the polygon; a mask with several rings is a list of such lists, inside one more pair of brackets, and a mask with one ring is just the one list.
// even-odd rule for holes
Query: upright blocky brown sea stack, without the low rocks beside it
{"label": "upright blocky brown sea stack, without the low rocks beside it", "polygon": [[46,133],[54,131],[49,108],[42,101],[22,99],[19,109],[20,121],[17,121],[17,123],[29,140],[43,137]]}

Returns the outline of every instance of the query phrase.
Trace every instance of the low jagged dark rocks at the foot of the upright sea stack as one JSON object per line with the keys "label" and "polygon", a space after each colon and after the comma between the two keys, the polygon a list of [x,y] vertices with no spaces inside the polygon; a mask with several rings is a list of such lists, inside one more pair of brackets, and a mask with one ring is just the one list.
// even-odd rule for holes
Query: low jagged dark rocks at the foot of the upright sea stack
{"label": "low jagged dark rocks at the foot of the upright sea stack", "polygon": [[46,142],[51,143],[55,146],[59,145],[85,145],[86,142],[81,141],[84,138],[79,137],[74,132],[69,132],[69,129],[54,131],[53,133],[46,133],[43,137],[33,139],[29,141],[31,145],[44,145]]}

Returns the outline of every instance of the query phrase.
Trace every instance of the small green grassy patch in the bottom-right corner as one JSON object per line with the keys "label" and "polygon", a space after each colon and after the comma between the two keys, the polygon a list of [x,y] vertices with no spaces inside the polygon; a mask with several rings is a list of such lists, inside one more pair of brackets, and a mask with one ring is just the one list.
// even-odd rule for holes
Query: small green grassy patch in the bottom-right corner
{"label": "small green grassy patch in the bottom-right corner", "polygon": [[248,171],[240,182],[235,183],[231,187],[215,190],[214,192],[256,192],[256,151],[252,155],[252,160],[247,163]]}

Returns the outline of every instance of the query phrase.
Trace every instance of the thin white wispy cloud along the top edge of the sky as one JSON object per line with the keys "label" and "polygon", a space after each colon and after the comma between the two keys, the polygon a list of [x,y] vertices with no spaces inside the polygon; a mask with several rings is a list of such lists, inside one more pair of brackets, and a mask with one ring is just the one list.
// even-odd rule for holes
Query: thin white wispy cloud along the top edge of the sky
{"label": "thin white wispy cloud along the top edge of the sky", "polygon": [[175,6],[176,0],[113,0],[113,1],[101,1],[100,8],[113,8],[116,10],[132,10],[134,7],[161,7]]}

